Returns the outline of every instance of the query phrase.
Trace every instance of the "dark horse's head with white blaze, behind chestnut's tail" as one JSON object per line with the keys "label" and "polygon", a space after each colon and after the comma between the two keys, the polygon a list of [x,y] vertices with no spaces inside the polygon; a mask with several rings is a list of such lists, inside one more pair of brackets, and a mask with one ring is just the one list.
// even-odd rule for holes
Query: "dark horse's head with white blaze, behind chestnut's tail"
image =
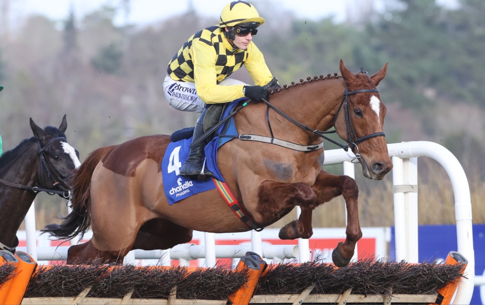
{"label": "dark horse's head with white blaze, behind chestnut's tail", "polygon": [[39,147],[39,182],[46,189],[66,191],[63,196],[71,189],[72,177],[81,165],[79,152],[66,140],[64,132],[67,127],[66,115],[59,128],[47,126],[42,129],[30,118],[30,128]]}

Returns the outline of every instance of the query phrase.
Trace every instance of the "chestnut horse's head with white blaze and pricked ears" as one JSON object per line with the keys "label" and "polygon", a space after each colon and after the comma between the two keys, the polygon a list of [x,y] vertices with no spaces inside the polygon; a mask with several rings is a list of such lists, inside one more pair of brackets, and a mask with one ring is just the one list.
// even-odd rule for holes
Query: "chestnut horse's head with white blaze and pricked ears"
{"label": "chestnut horse's head with white blaze and pricked ears", "polygon": [[387,65],[369,76],[363,71],[353,74],[340,61],[346,90],[345,101],[335,120],[335,130],[350,143],[349,148],[361,163],[364,176],[376,180],[384,178],[393,168],[383,132],[386,106],[376,88],[386,76]]}

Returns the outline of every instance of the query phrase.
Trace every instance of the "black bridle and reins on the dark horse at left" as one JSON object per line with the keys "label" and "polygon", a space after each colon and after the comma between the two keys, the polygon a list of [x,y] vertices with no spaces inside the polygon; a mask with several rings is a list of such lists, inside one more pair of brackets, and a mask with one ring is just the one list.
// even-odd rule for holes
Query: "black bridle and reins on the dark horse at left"
{"label": "black bridle and reins on the dark horse at left", "polygon": [[46,185],[44,182],[44,171],[47,171],[47,175],[51,177],[52,181],[54,182],[54,186],[56,186],[59,190],[49,190],[49,189],[40,188],[37,186],[31,187],[31,186],[22,185],[22,184],[11,183],[2,179],[0,179],[0,183],[7,186],[23,189],[23,190],[33,191],[34,193],[44,192],[44,193],[47,193],[48,195],[57,194],[57,195],[63,196],[64,198],[69,198],[69,194],[70,194],[69,185],[66,183],[66,180],[72,177],[74,174],[70,174],[69,176],[62,178],[46,157],[46,152],[45,152],[46,148],[54,141],[57,141],[57,140],[65,140],[67,142],[65,137],[55,137],[50,141],[48,141],[44,147],[41,147],[41,143],[39,141],[37,141],[37,145],[39,147],[39,152],[38,152],[39,158],[40,158],[39,170],[40,170],[40,176],[42,179],[42,185],[44,187]]}

